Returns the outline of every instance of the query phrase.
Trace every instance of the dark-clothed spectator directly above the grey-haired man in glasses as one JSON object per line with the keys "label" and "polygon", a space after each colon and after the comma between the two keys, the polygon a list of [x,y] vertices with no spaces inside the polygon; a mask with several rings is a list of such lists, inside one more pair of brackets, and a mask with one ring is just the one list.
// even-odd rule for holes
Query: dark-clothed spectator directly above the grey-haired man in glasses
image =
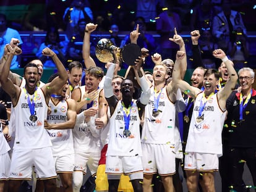
{"label": "dark-clothed spectator directly above the grey-haired man in glasses", "polygon": [[235,69],[246,67],[247,59],[249,58],[249,42],[244,34],[242,27],[237,27],[235,30],[235,41],[232,44],[229,56],[234,62]]}

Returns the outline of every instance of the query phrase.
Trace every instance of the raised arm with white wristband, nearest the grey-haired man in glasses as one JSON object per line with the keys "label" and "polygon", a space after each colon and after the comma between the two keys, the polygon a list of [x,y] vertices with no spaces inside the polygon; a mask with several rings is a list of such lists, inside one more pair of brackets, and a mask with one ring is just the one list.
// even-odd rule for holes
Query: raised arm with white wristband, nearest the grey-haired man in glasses
{"label": "raised arm with white wristband, nearest the grey-haired man in glasses", "polygon": [[229,80],[227,81],[226,85],[224,88],[222,88],[218,94],[218,101],[220,104],[221,109],[226,109],[226,99],[228,99],[229,95],[232,93],[234,90],[236,83],[237,83],[237,73],[236,70],[234,69],[234,64],[231,60],[228,59],[226,56],[225,52],[221,49],[215,49],[213,51],[213,56],[221,59],[224,64],[226,64],[228,74],[229,74]]}

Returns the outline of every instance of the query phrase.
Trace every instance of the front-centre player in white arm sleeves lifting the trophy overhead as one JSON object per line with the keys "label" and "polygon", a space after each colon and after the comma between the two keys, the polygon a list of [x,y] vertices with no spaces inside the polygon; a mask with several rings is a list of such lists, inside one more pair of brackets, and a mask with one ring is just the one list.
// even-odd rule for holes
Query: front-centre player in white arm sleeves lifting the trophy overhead
{"label": "front-centre player in white arm sleeves lifting the trophy overhead", "polygon": [[108,101],[111,117],[109,119],[109,142],[106,154],[106,173],[108,191],[117,191],[122,173],[129,175],[134,191],[142,191],[143,167],[140,144],[140,119],[144,107],[150,98],[150,88],[140,66],[142,59],[135,61],[134,72],[139,75],[142,94],[138,100],[132,99],[134,84],[126,79],[121,83],[122,100],[113,93],[111,81],[116,64],[111,64],[104,83],[105,97]]}

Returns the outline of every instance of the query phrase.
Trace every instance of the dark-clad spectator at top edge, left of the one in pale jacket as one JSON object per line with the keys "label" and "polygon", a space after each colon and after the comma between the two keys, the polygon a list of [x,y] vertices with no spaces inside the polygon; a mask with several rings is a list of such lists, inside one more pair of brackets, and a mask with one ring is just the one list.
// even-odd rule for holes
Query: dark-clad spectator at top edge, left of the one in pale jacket
{"label": "dark-clad spectator at top edge, left of the one in pale jacket", "polygon": [[193,9],[190,18],[190,30],[210,30],[212,27],[215,10],[211,0],[202,0],[202,2]]}

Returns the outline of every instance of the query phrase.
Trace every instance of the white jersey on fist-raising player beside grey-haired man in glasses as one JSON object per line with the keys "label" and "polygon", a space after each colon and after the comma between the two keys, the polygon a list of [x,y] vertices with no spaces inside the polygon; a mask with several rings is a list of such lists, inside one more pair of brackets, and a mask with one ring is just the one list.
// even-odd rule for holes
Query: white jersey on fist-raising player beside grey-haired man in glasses
{"label": "white jersey on fist-raising player beside grey-haired man in glasses", "polygon": [[[223,129],[226,111],[220,109],[217,94],[208,98],[203,106],[203,92],[197,95],[189,126],[186,152],[203,152],[222,155],[221,132]],[[202,101],[202,102],[201,102]],[[199,122],[200,106],[203,107],[203,120]],[[201,108],[202,108],[201,107]]]}

